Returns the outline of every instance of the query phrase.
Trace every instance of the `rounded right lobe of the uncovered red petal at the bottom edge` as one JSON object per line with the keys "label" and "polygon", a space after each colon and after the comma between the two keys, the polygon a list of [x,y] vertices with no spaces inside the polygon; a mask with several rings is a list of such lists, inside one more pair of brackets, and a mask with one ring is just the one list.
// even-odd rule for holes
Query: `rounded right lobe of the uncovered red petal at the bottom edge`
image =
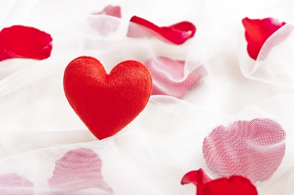
{"label": "rounded right lobe of the uncovered red petal at the bottom edge", "polygon": [[229,179],[220,178],[206,183],[202,195],[258,195],[258,193],[249,179],[234,175]]}

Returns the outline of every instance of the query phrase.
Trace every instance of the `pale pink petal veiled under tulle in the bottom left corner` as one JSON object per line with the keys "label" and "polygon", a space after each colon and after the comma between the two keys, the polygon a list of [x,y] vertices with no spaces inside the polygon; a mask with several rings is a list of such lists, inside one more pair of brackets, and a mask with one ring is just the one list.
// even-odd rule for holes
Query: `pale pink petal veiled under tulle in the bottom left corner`
{"label": "pale pink petal veiled under tulle in the bottom left corner", "polygon": [[34,195],[34,184],[17,173],[0,175],[0,195]]}

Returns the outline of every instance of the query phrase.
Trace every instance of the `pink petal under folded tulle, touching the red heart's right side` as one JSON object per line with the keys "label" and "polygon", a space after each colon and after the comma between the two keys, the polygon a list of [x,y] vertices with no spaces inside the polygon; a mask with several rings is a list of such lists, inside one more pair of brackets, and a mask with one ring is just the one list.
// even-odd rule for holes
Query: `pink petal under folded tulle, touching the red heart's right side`
{"label": "pink petal under folded tulle, touching the red heart's right side", "polygon": [[182,99],[207,75],[204,66],[198,64],[193,63],[196,68],[183,80],[185,61],[172,60],[164,56],[148,59],[145,65],[153,79],[152,95],[170,95]]}

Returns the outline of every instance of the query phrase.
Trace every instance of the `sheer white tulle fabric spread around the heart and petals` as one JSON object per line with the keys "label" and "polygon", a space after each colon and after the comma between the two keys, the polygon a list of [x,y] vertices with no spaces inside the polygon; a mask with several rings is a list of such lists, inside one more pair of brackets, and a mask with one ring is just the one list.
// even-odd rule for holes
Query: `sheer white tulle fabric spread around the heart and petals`
{"label": "sheer white tulle fabric spread around the heart and petals", "polygon": [[[90,16],[108,4],[120,5],[123,19]],[[218,126],[255,118],[277,121],[286,132],[280,166],[268,180],[255,183],[259,195],[294,194],[291,7],[289,0],[1,1],[1,28],[23,24],[46,31],[53,38],[53,50],[43,61],[0,62],[0,194],[108,195],[111,187],[114,195],[195,195],[195,186],[180,185],[185,173],[202,168],[213,178],[219,176],[203,158],[204,138]],[[133,33],[147,33],[128,22],[133,15],[158,25],[190,21],[197,27],[196,35],[183,45],[128,38],[129,25]],[[244,17],[274,17],[288,22],[265,43],[256,62],[246,52]],[[99,33],[117,24],[115,32],[107,36]],[[282,38],[282,43],[272,46]],[[206,76],[188,91],[185,85],[175,90],[159,86],[164,91],[173,90],[173,96],[181,99],[151,96],[146,109],[131,124],[115,136],[97,140],[63,91],[64,69],[81,55],[98,58],[108,72],[124,60],[144,63],[164,56],[185,62],[182,78],[169,76],[166,82],[181,82],[200,65],[205,67]],[[265,147],[248,143],[256,150],[268,151],[285,141]],[[70,151],[82,151],[90,161],[72,155],[64,166],[89,166],[81,165],[82,172],[61,171],[66,178],[50,182],[55,165]],[[100,163],[98,159],[102,177],[92,174],[96,169],[91,162],[95,166]],[[24,185],[9,185],[14,180]]]}

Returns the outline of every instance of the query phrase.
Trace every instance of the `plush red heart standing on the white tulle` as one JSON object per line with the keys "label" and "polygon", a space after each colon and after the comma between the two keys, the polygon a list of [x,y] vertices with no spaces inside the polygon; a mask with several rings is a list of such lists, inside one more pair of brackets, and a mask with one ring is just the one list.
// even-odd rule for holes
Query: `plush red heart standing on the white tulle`
{"label": "plush red heart standing on the white tulle", "polygon": [[98,138],[122,130],[146,107],[152,78],[140,62],[127,60],[107,74],[93,57],[80,56],[66,67],[64,92],[73,110]]}

